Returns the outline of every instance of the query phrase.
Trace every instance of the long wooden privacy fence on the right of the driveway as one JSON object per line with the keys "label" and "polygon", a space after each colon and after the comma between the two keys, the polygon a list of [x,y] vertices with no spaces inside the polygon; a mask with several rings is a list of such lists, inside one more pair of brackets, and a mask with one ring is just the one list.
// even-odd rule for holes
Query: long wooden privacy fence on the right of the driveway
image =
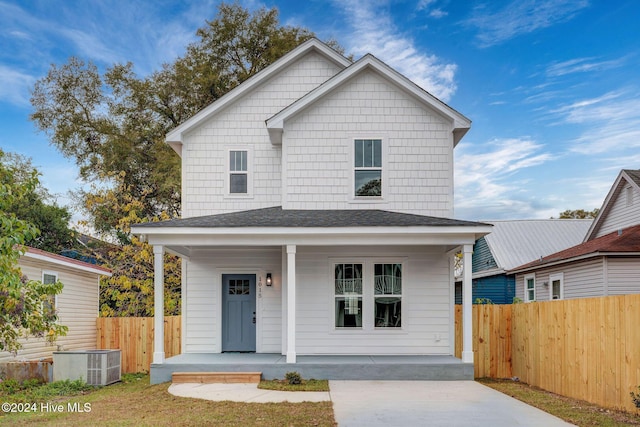
{"label": "long wooden privacy fence on the right of the driveway", "polygon": [[[456,354],[461,349],[456,307]],[[475,376],[508,378],[635,411],[640,295],[473,307]]]}

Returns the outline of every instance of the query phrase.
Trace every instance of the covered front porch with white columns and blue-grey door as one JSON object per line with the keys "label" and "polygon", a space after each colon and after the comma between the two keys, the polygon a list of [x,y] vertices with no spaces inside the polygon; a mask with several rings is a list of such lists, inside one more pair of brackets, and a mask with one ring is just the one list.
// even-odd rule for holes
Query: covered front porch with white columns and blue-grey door
{"label": "covered front porch with white columns and blue-grey door", "polygon": [[[256,371],[264,378],[298,371],[323,379],[470,379],[471,253],[475,240],[489,231],[486,224],[387,211],[280,207],[138,225],[134,232],[153,245],[155,255],[152,382],[194,371]],[[184,354],[173,358],[165,358],[162,340],[165,251],[183,258]],[[453,356],[453,258],[459,251],[462,360]],[[347,278],[358,290],[346,297],[338,286],[346,280],[341,266],[358,272]],[[391,299],[386,290],[376,293],[377,275],[383,274],[378,267],[385,266],[397,272],[393,323],[379,323],[375,316],[386,303],[377,298]],[[232,325],[221,309],[232,292],[225,277],[235,273],[250,276],[246,295],[256,302],[247,311],[246,322],[256,325],[249,354],[225,348],[223,339]],[[347,325],[345,313],[357,320]]]}

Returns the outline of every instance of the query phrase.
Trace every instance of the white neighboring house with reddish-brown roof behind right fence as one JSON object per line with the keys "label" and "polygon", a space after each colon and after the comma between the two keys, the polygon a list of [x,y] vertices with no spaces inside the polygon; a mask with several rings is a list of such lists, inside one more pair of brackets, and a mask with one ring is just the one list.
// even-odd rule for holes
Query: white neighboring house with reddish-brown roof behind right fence
{"label": "white neighboring house with reddish-brown roof behind right fence", "polygon": [[640,293],[640,170],[622,170],[576,246],[512,269],[525,302]]}

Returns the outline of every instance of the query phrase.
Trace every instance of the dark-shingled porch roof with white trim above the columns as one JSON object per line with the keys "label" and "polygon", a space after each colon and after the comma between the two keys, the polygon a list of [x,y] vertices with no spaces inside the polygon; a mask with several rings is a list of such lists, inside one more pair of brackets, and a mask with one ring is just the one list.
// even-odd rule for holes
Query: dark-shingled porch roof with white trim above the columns
{"label": "dark-shingled porch roof with white trim above the columns", "polygon": [[135,235],[189,257],[196,248],[284,245],[472,245],[490,224],[383,210],[281,206],[137,224]]}

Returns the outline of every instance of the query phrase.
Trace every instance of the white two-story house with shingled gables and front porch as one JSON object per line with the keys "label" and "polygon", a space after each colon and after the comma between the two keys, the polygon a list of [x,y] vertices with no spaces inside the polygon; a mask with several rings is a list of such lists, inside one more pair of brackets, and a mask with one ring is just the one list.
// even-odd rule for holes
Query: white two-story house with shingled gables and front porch
{"label": "white two-story house with shingled gables and front porch", "polygon": [[[156,260],[152,381],[220,360],[327,378],[303,365],[453,359],[459,250],[455,360],[472,378],[471,250],[491,226],[451,219],[470,124],[374,56],[352,63],[313,39],[175,128],[182,218],[133,227]],[[165,251],[183,260],[184,322],[183,354],[166,360]]]}

